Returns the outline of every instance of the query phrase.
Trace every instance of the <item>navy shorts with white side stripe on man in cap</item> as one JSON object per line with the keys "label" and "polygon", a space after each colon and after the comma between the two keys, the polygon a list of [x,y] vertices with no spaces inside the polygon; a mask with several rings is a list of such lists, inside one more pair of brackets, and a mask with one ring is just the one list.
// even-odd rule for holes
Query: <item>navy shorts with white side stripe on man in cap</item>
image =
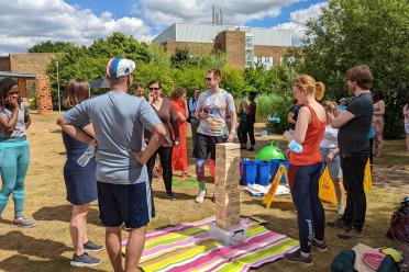
{"label": "navy shorts with white side stripe on man in cap", "polygon": [[155,216],[150,182],[135,184],[98,183],[99,217],[106,227],[146,226]]}

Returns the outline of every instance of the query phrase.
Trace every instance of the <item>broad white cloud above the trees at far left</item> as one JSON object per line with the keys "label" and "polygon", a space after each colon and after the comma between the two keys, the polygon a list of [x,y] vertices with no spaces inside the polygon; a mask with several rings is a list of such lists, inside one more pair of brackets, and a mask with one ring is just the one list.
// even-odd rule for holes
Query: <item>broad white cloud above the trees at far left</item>
{"label": "broad white cloud above the trees at far left", "polygon": [[139,41],[151,39],[151,29],[137,18],[95,14],[64,0],[0,1],[0,54],[25,52],[35,43],[67,41],[89,45],[120,31]]}

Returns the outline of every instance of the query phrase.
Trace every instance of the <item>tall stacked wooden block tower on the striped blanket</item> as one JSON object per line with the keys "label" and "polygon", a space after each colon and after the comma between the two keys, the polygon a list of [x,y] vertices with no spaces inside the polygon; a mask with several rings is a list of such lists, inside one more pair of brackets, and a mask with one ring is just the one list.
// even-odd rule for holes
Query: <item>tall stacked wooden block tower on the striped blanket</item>
{"label": "tall stacked wooden block tower on the striped blanket", "polygon": [[215,145],[215,224],[229,230],[240,225],[240,145]]}

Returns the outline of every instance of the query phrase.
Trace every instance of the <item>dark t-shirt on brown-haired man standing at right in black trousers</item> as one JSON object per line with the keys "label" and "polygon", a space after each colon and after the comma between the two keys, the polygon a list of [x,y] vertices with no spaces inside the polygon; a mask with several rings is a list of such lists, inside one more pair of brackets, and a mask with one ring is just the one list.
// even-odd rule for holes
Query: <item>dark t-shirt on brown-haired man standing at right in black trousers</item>
{"label": "dark t-shirt on brown-haired man standing at right in black trousers", "polygon": [[369,155],[368,133],[374,114],[371,92],[355,97],[346,106],[346,111],[355,117],[340,127],[338,143],[341,152],[355,156]]}

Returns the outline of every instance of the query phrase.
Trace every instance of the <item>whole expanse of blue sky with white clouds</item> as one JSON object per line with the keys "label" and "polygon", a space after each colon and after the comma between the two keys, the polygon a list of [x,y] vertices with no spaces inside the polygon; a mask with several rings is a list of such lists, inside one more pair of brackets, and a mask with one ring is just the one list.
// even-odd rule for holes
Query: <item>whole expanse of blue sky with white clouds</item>
{"label": "whole expanse of blue sky with white clouds", "polygon": [[[175,22],[211,23],[211,7],[224,9],[229,25],[291,30],[299,45],[305,23],[322,0],[19,0],[0,1],[0,55],[26,52],[36,43],[89,45],[120,31],[150,42]],[[18,23],[16,23],[18,22]]]}

